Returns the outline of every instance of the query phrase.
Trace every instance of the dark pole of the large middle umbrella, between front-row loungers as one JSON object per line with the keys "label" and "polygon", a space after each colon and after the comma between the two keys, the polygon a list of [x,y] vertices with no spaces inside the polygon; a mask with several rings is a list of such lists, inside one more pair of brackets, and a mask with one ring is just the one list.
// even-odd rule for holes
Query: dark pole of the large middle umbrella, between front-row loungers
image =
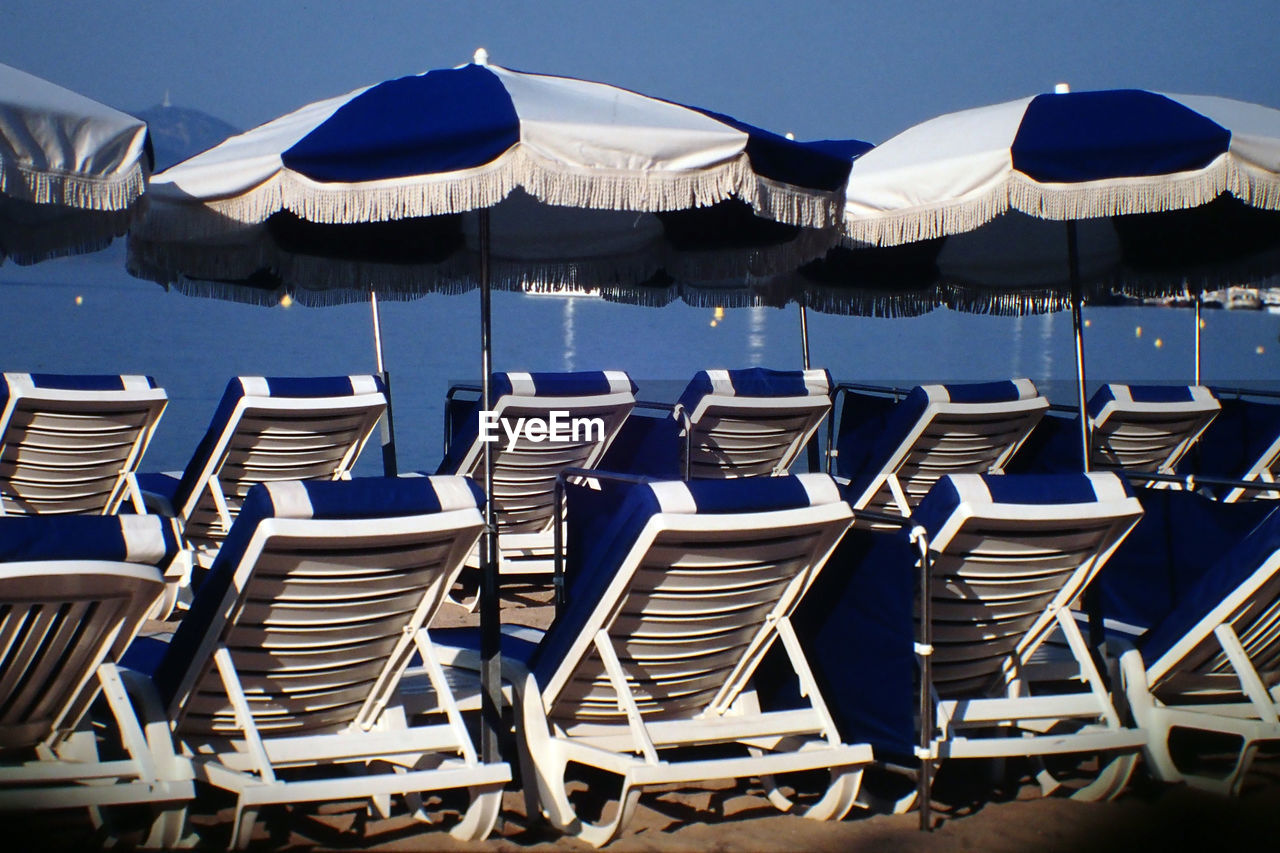
{"label": "dark pole of the large middle umbrella, between front-row loungers", "polygon": [[[480,400],[485,412],[493,409],[489,374],[493,373],[490,338],[489,210],[480,214]],[[484,534],[480,538],[480,757],[498,761],[498,731],[502,726],[502,642],[498,612],[498,526],[493,506],[493,455],[484,443]]]}

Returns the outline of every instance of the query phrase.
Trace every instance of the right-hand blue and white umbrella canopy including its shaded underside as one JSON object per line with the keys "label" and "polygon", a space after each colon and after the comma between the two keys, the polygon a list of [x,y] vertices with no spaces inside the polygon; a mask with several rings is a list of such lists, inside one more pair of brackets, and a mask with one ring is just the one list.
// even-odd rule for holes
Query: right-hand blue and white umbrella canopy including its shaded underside
{"label": "right-hand blue and white umbrella canopy including its shaded underside", "polygon": [[[1204,95],[1060,91],[950,113],[859,158],[852,247],[933,242],[975,310],[1178,292],[1280,272],[1280,110]],[[1061,225],[1075,223],[1076,248]],[[995,293],[995,296],[991,296]]]}

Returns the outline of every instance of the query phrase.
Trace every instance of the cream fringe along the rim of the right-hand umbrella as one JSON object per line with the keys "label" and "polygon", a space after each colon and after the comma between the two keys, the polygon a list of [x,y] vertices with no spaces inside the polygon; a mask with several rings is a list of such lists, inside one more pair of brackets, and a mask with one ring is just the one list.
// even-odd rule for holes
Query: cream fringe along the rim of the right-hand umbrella
{"label": "cream fringe along the rim of the right-hand umbrella", "polygon": [[1226,192],[1253,207],[1280,210],[1280,175],[1228,152],[1199,172],[1078,184],[1042,184],[1011,172],[982,196],[886,215],[846,216],[842,242],[856,248],[947,237],[974,231],[1009,209],[1053,220],[1181,210]]}

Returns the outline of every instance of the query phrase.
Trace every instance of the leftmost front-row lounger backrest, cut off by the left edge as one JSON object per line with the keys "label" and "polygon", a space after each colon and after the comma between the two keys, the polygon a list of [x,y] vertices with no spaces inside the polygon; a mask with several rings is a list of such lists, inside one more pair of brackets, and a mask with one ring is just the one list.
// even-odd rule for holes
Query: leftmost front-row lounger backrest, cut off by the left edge
{"label": "leftmost front-row lounger backrest, cut off by the left edge", "polygon": [[0,748],[76,727],[164,589],[177,552],[151,515],[0,519]]}

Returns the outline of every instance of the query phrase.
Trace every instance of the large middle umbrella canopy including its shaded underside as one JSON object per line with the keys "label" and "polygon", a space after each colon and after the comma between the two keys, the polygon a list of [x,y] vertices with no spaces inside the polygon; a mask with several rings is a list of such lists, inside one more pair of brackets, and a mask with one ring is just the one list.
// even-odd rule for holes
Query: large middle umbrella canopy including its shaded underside
{"label": "large middle umbrella canopy including its shaded underside", "polygon": [[486,210],[498,286],[768,274],[835,242],[849,163],[844,143],[477,55],[303,106],[164,172],[129,263],[264,302],[465,289]]}

